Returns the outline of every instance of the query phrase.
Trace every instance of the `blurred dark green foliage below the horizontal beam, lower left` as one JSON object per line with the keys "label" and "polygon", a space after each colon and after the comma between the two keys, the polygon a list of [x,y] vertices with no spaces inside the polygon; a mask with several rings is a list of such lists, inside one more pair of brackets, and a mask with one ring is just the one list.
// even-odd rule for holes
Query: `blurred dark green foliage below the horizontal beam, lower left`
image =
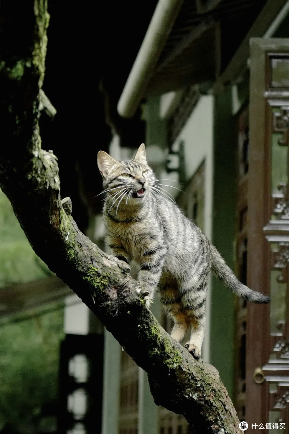
{"label": "blurred dark green foliage below the horizontal beam, lower left", "polygon": [[33,434],[45,407],[57,405],[63,308],[3,324],[0,333],[0,426]]}

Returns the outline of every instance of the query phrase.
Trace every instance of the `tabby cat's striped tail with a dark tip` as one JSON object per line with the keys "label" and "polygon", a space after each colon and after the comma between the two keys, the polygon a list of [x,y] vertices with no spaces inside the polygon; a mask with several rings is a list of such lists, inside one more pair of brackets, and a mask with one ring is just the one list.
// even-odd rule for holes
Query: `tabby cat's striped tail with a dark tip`
{"label": "tabby cat's striped tail with a dark tip", "polygon": [[264,296],[261,293],[257,293],[248,286],[243,285],[236,278],[230,267],[227,266],[226,262],[223,260],[222,256],[212,244],[210,245],[211,251],[211,261],[212,261],[212,271],[214,275],[220,279],[220,281],[227,286],[234,294],[239,297],[243,297],[252,303],[269,303],[270,297]]}

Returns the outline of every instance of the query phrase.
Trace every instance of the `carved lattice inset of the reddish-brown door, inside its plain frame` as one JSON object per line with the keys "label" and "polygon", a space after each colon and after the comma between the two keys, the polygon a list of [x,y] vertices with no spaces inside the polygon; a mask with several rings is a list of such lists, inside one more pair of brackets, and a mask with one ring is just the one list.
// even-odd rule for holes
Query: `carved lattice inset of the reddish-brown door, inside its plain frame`
{"label": "carved lattice inset of the reddish-brown door, inside its plain frame", "polygon": [[271,210],[263,228],[270,245],[270,354],[263,372],[268,420],[289,428],[289,100],[268,99]]}

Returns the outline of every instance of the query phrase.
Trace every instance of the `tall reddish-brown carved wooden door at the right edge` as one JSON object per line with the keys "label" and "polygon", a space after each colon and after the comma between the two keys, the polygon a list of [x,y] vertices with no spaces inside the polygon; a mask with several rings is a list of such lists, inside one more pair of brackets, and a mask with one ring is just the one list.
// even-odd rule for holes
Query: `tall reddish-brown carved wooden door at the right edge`
{"label": "tall reddish-brown carved wooden door at the right edge", "polygon": [[[289,433],[289,39],[251,39],[247,432]],[[283,431],[282,429],[285,428]]]}

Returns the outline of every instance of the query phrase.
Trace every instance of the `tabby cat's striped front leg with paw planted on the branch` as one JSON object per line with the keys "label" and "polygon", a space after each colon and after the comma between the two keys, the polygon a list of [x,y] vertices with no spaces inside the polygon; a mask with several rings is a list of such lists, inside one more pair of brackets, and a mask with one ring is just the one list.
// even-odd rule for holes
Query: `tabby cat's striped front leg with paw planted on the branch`
{"label": "tabby cat's striped front leg with paw planted on the branch", "polygon": [[147,307],[150,306],[154,299],[154,294],[161,279],[163,265],[164,251],[162,249],[145,252],[140,260],[138,281],[141,285],[141,295],[144,296]]}

